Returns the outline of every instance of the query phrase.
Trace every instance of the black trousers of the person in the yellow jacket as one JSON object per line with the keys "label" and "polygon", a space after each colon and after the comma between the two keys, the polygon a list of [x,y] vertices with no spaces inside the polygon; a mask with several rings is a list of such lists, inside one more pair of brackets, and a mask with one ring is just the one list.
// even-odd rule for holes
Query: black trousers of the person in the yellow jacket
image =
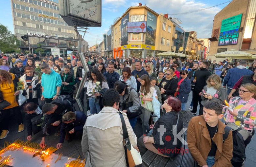
{"label": "black trousers of the person in the yellow jacket", "polygon": [[21,123],[23,124],[22,114],[19,106],[2,110],[0,114],[0,132],[2,132],[2,130],[8,130],[9,122],[11,121],[11,115],[14,115],[15,122],[17,122],[18,125]]}

